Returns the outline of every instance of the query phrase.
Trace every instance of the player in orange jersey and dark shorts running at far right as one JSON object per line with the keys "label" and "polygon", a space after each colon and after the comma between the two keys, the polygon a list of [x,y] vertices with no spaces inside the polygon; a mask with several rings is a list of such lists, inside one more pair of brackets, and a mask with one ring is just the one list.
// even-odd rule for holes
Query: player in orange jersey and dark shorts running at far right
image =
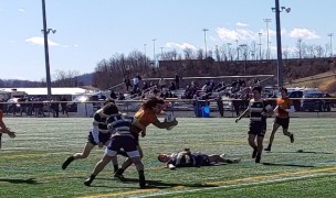
{"label": "player in orange jersey and dark shorts running at far right", "polygon": [[273,123],[273,129],[270,136],[269,146],[265,148],[265,151],[271,151],[275,132],[280,127],[282,127],[283,134],[288,136],[292,143],[294,142],[294,134],[288,132],[288,125],[290,125],[288,112],[292,112],[291,107],[293,106],[293,102],[287,97],[288,92],[286,88],[284,87],[281,88],[280,92],[281,92],[281,97],[276,98],[276,107],[274,109],[275,119]]}

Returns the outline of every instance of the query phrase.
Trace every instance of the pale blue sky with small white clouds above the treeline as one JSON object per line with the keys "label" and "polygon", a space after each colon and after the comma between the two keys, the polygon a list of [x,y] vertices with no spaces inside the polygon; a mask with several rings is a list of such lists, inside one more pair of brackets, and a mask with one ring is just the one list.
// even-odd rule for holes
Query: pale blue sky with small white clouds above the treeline
{"label": "pale blue sky with small white clouds above the treeline", "polygon": [[[0,1],[0,78],[45,78],[41,0]],[[266,24],[272,19],[270,41],[275,53],[274,0],[45,0],[51,75],[55,70],[92,73],[96,64],[114,54],[134,50],[156,53],[203,48],[232,43],[266,46]],[[291,12],[281,13],[282,45],[295,50],[306,44],[329,43],[336,33],[335,0],[280,0]],[[334,37],[333,37],[334,41]],[[336,46],[333,44],[333,46]],[[335,47],[333,47],[335,48]],[[335,51],[335,50],[334,50]]]}

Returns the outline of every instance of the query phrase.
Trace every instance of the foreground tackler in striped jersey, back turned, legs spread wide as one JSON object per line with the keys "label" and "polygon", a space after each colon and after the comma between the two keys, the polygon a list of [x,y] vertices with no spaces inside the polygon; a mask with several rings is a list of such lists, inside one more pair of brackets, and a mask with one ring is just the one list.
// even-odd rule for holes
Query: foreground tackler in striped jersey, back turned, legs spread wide
{"label": "foreground tackler in striped jersey, back turned, legs spread wide", "polygon": [[104,167],[117,157],[118,151],[123,148],[129,156],[132,163],[135,165],[139,175],[139,186],[144,188],[146,186],[144,164],[141,163],[140,153],[137,148],[138,142],[130,132],[130,127],[134,124],[146,133],[146,128],[139,121],[133,117],[123,116],[119,113],[118,108],[111,103],[108,105],[108,114],[112,114],[107,119],[108,130],[113,133],[109,144],[105,150],[105,155],[96,164],[92,175],[84,182],[84,185],[90,186],[95,177],[104,169]]}

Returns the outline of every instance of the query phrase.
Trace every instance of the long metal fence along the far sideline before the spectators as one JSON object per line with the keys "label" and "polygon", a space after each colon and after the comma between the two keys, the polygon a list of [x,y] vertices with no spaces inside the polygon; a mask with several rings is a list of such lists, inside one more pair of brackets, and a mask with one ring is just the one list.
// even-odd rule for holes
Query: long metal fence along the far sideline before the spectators
{"label": "long metal fence along the far sideline before the spectators", "polygon": [[[275,107],[274,98],[267,98]],[[316,107],[312,109],[297,109],[291,113],[296,118],[335,118],[336,117],[336,98],[293,98],[293,103],[301,108],[305,101],[315,101]],[[134,114],[141,106],[144,100],[116,100],[119,111]],[[241,113],[249,101],[241,99],[222,99],[222,100],[181,100],[166,99],[170,103],[169,110],[176,117],[199,117],[199,118],[234,118]],[[323,101],[323,103],[322,103]],[[0,102],[3,113],[8,117],[92,117],[93,113],[103,106],[104,101],[87,102],[62,102],[62,101],[27,101],[27,102]],[[321,105],[328,107],[321,108]],[[318,106],[318,107],[317,107]],[[223,114],[221,114],[223,111]]]}

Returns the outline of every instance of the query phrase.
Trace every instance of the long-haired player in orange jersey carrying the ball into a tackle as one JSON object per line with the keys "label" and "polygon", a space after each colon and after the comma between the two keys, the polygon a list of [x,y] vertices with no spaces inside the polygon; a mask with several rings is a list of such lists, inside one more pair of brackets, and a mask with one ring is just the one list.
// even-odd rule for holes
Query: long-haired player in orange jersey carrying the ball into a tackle
{"label": "long-haired player in orange jersey carrying the ball into a tackle", "polygon": [[[151,123],[155,127],[159,129],[169,129],[170,127],[177,125],[178,121],[174,120],[171,122],[160,122],[157,118],[158,114],[161,113],[161,111],[165,108],[165,100],[157,97],[150,97],[146,101],[143,102],[140,109],[135,113],[135,118],[144,124],[146,128]],[[136,127],[132,128],[133,135],[135,136],[135,140],[138,142],[139,140],[139,132],[141,129],[138,129]],[[141,132],[141,135],[146,135],[146,131]],[[143,157],[143,150],[139,144],[137,144],[137,148],[140,153],[140,157]],[[124,179],[123,173],[127,167],[132,165],[132,160],[127,158],[122,167],[114,174],[116,178]]]}

